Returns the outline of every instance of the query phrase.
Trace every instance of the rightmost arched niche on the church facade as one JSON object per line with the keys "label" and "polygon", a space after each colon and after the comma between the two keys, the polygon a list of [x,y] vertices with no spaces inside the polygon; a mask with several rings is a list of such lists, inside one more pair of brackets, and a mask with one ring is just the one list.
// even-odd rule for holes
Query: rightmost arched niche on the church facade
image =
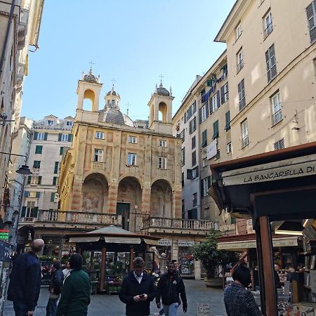
{"label": "rightmost arched niche on the church facade", "polygon": [[150,216],[172,217],[173,193],[171,185],[166,180],[156,180],[152,183],[150,192]]}

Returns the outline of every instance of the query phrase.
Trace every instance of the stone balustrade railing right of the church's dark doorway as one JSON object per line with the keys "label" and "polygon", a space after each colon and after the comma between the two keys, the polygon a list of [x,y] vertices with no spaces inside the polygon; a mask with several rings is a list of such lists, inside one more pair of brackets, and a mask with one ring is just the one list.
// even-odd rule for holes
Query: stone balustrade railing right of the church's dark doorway
{"label": "stone balustrade railing right of the church's dark doorway", "polygon": [[191,220],[181,218],[149,217],[143,220],[143,229],[176,228],[182,230],[210,230],[218,229],[218,224],[211,220]]}

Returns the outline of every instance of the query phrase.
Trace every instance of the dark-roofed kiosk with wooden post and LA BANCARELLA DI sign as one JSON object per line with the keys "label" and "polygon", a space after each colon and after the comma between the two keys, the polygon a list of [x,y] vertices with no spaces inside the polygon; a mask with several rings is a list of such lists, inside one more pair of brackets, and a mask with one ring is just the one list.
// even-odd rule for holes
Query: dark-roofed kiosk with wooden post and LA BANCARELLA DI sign
{"label": "dark-roofed kiosk with wooden post and LA BANCARELLA DI sign", "polygon": [[[235,213],[237,217],[249,216],[253,221],[263,315],[275,316],[284,312],[279,310],[278,314],[273,234],[304,237],[306,251],[302,251],[301,256],[308,267],[293,272],[291,299],[294,305],[286,312],[294,315],[293,312],[302,310],[303,305],[314,312],[316,143],[214,164],[211,171],[214,183],[209,193],[219,209]],[[305,257],[309,258],[306,262]],[[289,261],[288,265],[295,264],[289,254],[282,260]]]}

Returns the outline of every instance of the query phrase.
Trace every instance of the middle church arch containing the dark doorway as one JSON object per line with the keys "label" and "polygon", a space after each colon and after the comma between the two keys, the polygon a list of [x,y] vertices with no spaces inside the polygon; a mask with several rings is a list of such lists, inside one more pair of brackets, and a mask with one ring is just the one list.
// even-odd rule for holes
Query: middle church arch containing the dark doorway
{"label": "middle church arch containing the dark doorway", "polygon": [[142,189],[138,179],[123,178],[117,191],[117,215],[121,215],[122,228],[131,232],[138,231],[137,214],[140,213]]}

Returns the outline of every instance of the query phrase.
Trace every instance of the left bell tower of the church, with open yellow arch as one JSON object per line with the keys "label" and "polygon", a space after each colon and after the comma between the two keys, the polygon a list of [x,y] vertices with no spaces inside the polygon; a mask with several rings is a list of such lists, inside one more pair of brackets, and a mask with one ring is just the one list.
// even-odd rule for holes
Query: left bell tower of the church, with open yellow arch
{"label": "left bell tower of the church, with open yellow arch", "polygon": [[77,110],[83,110],[84,107],[84,99],[89,99],[92,102],[91,111],[96,112],[99,110],[99,100],[100,100],[100,92],[102,88],[102,84],[100,84],[100,75],[96,77],[92,73],[92,69],[88,74],[83,74],[83,78],[78,80],[78,105]]}

